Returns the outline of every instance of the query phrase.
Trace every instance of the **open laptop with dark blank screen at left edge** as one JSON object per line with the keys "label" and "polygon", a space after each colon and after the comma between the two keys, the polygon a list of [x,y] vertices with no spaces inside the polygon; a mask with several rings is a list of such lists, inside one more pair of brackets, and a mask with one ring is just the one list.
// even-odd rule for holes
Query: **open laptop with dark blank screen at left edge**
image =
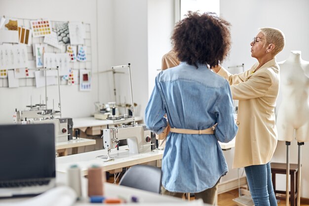
{"label": "open laptop with dark blank screen at left edge", "polygon": [[0,198],[53,188],[55,154],[54,124],[0,125]]}

